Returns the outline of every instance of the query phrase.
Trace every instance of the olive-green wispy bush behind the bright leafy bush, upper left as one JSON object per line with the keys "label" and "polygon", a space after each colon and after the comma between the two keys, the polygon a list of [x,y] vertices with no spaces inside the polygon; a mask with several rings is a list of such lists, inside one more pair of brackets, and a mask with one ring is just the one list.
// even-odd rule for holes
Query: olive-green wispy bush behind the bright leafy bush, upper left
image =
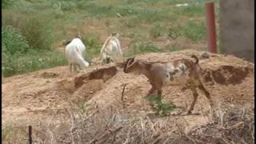
{"label": "olive-green wispy bush behind the bright leafy bush, upper left", "polygon": [[46,16],[34,12],[21,13],[14,10],[3,11],[2,26],[17,28],[26,38],[31,48],[50,50],[54,41],[50,20]]}

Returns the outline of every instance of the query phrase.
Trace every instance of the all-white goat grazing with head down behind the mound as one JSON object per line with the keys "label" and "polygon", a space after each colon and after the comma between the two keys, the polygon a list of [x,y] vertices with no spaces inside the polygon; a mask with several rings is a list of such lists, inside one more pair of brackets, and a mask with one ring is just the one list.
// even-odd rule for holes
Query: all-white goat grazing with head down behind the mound
{"label": "all-white goat grazing with head down behind the mound", "polygon": [[85,58],[86,46],[82,43],[80,38],[74,38],[69,42],[65,48],[65,55],[69,62],[70,72],[72,72],[72,66],[74,71],[77,71],[77,65],[80,70],[84,70],[90,66],[90,62],[86,62]]}

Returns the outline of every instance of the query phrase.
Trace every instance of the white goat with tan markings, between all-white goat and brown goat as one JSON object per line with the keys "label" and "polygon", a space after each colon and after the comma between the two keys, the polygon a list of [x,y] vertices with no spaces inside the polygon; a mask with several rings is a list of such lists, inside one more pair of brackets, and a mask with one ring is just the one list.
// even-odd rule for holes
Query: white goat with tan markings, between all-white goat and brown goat
{"label": "white goat with tan markings, between all-white goat and brown goat", "polygon": [[101,50],[102,62],[114,62],[117,56],[122,57],[121,45],[118,40],[118,33],[113,33],[109,38],[106,38]]}

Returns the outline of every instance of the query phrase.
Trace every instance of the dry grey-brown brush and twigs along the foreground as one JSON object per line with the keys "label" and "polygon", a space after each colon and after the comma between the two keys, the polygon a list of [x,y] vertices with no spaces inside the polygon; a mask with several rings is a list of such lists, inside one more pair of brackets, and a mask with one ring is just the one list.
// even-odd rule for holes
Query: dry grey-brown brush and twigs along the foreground
{"label": "dry grey-brown brush and twigs along the foreground", "polygon": [[[36,143],[253,143],[254,115],[246,107],[222,106],[216,116],[208,115],[210,122],[187,130],[179,122],[180,117],[159,118],[129,116],[109,107],[99,110],[95,103],[94,112],[82,114],[71,106],[66,112],[69,117],[62,123],[48,122],[33,128]],[[26,142],[28,135],[15,136]],[[27,132],[25,132],[27,133]],[[17,134],[17,133],[15,133]],[[10,137],[10,139],[12,139]],[[3,139],[2,142],[5,142]]]}

